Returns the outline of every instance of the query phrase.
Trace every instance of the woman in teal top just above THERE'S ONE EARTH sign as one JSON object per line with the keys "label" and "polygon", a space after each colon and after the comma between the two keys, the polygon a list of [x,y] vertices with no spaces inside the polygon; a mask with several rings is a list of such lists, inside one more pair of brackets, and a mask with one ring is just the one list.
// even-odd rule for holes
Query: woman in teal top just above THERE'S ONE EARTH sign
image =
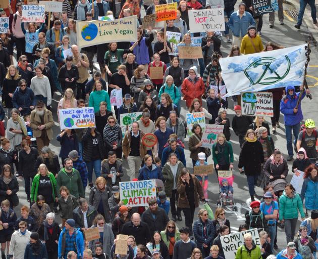
{"label": "woman in teal top just above THERE'S ONE EARTH sign", "polygon": [[101,81],[96,80],[93,85],[93,91],[89,95],[88,107],[93,107],[95,113],[99,112],[100,102],[106,102],[107,110],[112,111],[109,94],[102,89]]}

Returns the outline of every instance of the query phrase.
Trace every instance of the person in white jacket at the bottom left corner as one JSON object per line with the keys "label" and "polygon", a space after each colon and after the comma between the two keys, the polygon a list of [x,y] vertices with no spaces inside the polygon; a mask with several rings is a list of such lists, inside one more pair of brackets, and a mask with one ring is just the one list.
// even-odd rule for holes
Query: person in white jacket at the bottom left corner
{"label": "person in white jacket at the bottom left corner", "polygon": [[27,223],[21,221],[19,223],[19,230],[16,230],[11,236],[9,247],[9,256],[14,259],[23,259],[24,251],[27,244],[30,242],[30,231],[27,230]]}

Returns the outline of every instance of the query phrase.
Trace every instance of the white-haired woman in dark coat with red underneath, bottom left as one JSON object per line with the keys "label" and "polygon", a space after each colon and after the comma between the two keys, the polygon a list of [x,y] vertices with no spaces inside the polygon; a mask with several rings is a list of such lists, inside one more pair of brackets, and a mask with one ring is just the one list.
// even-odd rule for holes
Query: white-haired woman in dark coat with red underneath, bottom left
{"label": "white-haired woman in dark coat with red underneath, bottom left", "polygon": [[55,214],[53,212],[47,213],[45,221],[37,231],[40,239],[45,242],[48,259],[56,259],[58,257],[58,242],[61,228],[54,219]]}

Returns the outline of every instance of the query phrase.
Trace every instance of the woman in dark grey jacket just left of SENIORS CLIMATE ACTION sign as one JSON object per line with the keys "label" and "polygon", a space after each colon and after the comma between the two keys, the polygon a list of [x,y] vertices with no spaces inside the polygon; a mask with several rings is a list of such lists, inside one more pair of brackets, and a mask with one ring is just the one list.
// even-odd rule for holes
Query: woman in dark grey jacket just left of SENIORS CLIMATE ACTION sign
{"label": "woman in dark grey jacket just left of SENIORS CLIMATE ACTION sign", "polygon": [[111,196],[111,189],[106,185],[106,180],[103,177],[98,177],[95,186],[90,189],[89,204],[97,209],[106,222],[110,222],[108,199]]}

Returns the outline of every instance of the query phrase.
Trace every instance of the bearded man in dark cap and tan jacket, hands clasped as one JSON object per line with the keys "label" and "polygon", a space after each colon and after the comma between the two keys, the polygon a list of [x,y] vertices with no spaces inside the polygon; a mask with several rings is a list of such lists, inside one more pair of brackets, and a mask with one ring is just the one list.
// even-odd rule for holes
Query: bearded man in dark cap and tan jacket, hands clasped
{"label": "bearded man in dark cap and tan jacket, hands clasped", "polygon": [[46,109],[43,101],[37,101],[35,109],[31,112],[30,127],[33,130],[33,137],[36,138],[38,152],[42,147],[48,147],[49,141],[53,139],[52,126],[54,126],[52,113]]}

